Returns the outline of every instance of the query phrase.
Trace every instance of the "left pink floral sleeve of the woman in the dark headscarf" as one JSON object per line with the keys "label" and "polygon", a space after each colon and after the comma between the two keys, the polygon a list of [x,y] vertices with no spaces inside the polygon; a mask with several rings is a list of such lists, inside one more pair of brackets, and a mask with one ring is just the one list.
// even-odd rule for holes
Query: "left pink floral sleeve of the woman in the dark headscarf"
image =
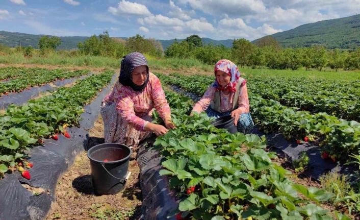
{"label": "left pink floral sleeve of the woman in the dark headscarf", "polygon": [[131,99],[131,92],[128,89],[118,89],[114,95],[114,102],[117,103],[116,109],[125,121],[133,125],[138,131],[144,131],[145,120],[138,117],[134,111],[134,102]]}

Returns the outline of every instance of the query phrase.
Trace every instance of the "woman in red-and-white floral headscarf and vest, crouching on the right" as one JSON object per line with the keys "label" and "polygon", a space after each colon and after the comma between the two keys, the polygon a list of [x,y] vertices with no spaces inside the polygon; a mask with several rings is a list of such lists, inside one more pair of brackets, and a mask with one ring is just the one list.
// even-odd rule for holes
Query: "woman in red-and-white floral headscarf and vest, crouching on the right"
{"label": "woman in red-and-white floral headscarf and vest, crouching on the right", "polygon": [[246,80],[229,60],[219,60],[214,69],[216,80],[195,104],[192,113],[206,111],[209,116],[231,115],[241,133],[250,133],[254,123],[249,113]]}

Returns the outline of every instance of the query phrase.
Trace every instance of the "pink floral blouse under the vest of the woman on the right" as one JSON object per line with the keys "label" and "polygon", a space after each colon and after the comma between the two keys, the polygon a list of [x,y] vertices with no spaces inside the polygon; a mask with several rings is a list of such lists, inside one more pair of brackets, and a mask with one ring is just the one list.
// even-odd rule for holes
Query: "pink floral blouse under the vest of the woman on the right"
{"label": "pink floral blouse under the vest of the woman on the right", "polygon": [[[211,85],[202,98],[195,104],[192,111],[200,113],[208,109],[209,105],[214,101],[215,88]],[[221,112],[232,111],[233,109],[233,97],[234,92],[229,92],[227,95],[223,91],[220,91],[220,109]],[[241,114],[248,113],[250,109],[249,97],[247,94],[246,81],[243,81],[238,100],[238,109],[241,109]]]}

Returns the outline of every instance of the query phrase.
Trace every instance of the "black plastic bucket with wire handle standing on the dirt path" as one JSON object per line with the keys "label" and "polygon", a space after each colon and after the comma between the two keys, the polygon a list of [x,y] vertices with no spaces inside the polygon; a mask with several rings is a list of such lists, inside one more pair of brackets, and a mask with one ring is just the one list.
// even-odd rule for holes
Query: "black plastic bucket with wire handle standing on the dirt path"
{"label": "black plastic bucket with wire handle standing on the dirt path", "polygon": [[114,194],[126,183],[132,150],[119,143],[102,143],[88,150],[91,180],[97,194]]}

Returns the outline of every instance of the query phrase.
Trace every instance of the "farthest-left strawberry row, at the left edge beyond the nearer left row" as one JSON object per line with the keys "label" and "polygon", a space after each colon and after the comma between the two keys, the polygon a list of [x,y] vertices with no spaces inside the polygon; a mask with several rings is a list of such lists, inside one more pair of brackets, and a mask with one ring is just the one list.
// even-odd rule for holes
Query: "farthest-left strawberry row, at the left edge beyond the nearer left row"
{"label": "farthest-left strawberry row, at the left edge beyond the nearer left row", "polygon": [[[0,72],[6,71],[1,69]],[[65,69],[41,69],[41,68],[9,68],[11,73],[16,74],[16,78],[9,81],[0,82],[0,94],[6,94],[7,92],[20,92],[23,89],[30,88],[32,86],[42,85],[44,83],[53,82],[58,79],[68,79],[73,77],[79,77],[88,74],[89,70],[75,70],[69,71]]]}

